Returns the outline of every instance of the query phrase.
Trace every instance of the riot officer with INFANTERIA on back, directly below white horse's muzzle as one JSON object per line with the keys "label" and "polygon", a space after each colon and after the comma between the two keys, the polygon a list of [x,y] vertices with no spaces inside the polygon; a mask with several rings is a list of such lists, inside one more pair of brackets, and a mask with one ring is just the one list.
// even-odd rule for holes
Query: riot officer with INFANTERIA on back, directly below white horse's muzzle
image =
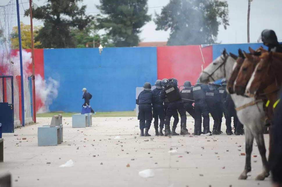
{"label": "riot officer with INFANTERIA on back, directly below white horse's muzzle", "polygon": [[195,100],[195,126],[194,135],[201,135],[202,116],[204,134],[210,133],[210,116],[208,115],[208,106],[206,103],[206,91],[209,91],[206,85],[203,85],[199,78],[196,85],[193,87],[193,98]]}

